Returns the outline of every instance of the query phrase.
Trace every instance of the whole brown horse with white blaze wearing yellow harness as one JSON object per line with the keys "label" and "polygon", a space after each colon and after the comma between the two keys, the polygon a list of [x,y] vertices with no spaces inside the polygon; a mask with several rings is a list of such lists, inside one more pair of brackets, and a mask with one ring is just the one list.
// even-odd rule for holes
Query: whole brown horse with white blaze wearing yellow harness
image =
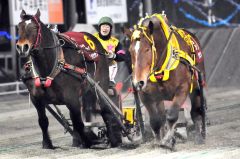
{"label": "whole brown horse with white blaze wearing yellow harness", "polygon": [[[192,104],[195,142],[203,143],[205,100],[202,78],[205,76],[202,75],[204,63],[201,50],[196,49],[199,46],[197,38],[190,32],[170,29],[160,14],[141,19],[134,30],[125,29],[125,34],[131,39],[129,51],[133,84],[149,112],[150,125],[157,141],[161,140],[160,146],[173,148],[179,110],[188,96]],[[194,42],[195,47],[189,42]],[[164,100],[172,101],[168,109]],[[165,122],[167,133],[160,133]]]}

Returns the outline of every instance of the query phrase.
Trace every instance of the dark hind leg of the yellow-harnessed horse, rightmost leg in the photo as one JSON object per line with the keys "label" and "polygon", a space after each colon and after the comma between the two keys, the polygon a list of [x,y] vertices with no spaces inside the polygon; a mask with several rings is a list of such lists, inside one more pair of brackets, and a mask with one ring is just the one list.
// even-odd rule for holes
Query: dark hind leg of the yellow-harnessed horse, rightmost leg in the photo
{"label": "dark hind leg of the yellow-harnessed horse, rightmost leg in the photo", "polygon": [[194,142],[195,144],[203,144],[204,136],[201,134],[203,124],[204,114],[201,110],[201,97],[200,91],[198,89],[194,89],[191,94],[191,102],[192,102],[192,111],[191,116],[194,122]]}

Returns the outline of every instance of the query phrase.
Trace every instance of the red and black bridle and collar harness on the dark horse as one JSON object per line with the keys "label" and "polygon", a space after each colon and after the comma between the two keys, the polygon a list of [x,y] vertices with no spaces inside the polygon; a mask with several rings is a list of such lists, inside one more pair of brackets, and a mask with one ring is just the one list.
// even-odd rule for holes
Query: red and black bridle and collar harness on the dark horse
{"label": "red and black bridle and collar harness on the dark horse", "polygon": [[[62,50],[62,47],[65,45],[65,40],[59,38],[55,32],[50,30],[51,35],[53,37],[53,45],[42,46],[41,42],[42,42],[43,36],[42,36],[41,22],[38,20],[36,16],[31,16],[30,19],[32,19],[38,26],[37,37],[33,45],[33,48],[31,48],[30,50],[30,61],[27,63],[28,67],[30,66],[30,70],[32,71],[32,76],[33,76],[32,78],[34,78],[35,86],[41,87],[43,85],[44,87],[50,87],[54,78],[61,71],[68,72],[70,70],[71,72],[75,72],[81,75],[81,77],[83,78],[83,76],[86,74],[86,69],[87,69],[84,55],[81,54],[84,59],[84,65],[85,65],[84,68],[66,63],[63,55],[63,50]],[[47,75],[46,77],[41,77],[34,66],[34,55],[39,54],[40,52],[44,51],[44,49],[54,49],[53,53],[55,58],[54,58],[54,63],[53,63],[53,67],[51,69],[50,74]]]}

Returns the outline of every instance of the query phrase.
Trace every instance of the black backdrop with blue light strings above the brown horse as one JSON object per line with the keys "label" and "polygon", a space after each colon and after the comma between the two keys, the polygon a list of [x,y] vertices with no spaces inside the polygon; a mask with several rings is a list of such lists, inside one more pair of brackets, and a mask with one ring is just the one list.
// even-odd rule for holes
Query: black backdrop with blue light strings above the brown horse
{"label": "black backdrop with blue light strings above the brown horse", "polygon": [[[136,24],[142,2],[127,1],[130,25]],[[170,23],[178,27],[234,27],[240,23],[239,0],[151,0],[151,6],[153,13],[165,11]]]}

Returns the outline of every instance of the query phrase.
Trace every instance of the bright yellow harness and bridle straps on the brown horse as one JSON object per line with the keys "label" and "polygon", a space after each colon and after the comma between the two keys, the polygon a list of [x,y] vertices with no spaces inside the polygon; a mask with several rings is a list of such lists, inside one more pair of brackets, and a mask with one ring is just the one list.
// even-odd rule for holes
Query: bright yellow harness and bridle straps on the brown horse
{"label": "bright yellow harness and bridle straps on the brown horse", "polygon": [[[159,21],[161,23],[161,27],[163,29],[163,32],[166,36],[166,39],[169,40],[169,43],[166,46],[167,47],[166,48],[166,50],[167,50],[166,58],[165,58],[165,60],[162,64],[161,68],[158,71],[154,71],[155,60],[156,60],[155,58],[157,56],[157,52],[156,52],[156,47],[155,47],[155,42],[154,42],[154,39],[153,39],[153,35],[148,36],[147,33],[146,33],[147,28],[144,27],[144,26],[141,26],[142,21],[145,18],[140,19],[140,21],[138,23],[138,28],[142,29],[143,35],[152,44],[152,64],[151,64],[151,71],[150,71],[150,76],[149,76],[150,81],[151,82],[157,82],[158,80],[155,77],[155,75],[157,75],[157,74],[163,74],[162,81],[167,81],[169,79],[169,76],[170,76],[170,71],[176,69],[177,66],[179,65],[180,58],[183,58],[183,59],[187,60],[193,66],[193,65],[195,65],[195,57],[191,58],[188,53],[186,53],[185,51],[180,49],[178,40],[177,40],[177,38],[174,34],[172,34],[171,37],[170,37],[170,27],[165,22],[165,20],[163,19],[161,14],[153,14],[152,16],[148,16],[147,18],[150,18],[150,17],[153,17],[153,16],[155,16],[159,19]],[[175,31],[180,30],[180,29],[177,29],[176,27],[173,27],[172,29],[174,29]],[[131,37],[131,40],[140,38],[140,34],[141,34],[141,31],[135,29],[134,32],[133,32],[133,35]],[[190,44],[189,37],[184,38],[185,34],[183,34],[183,32],[181,32],[180,35],[183,37],[184,40],[188,39],[186,42],[188,44]],[[192,75],[192,79],[193,79],[193,75]],[[190,92],[192,91],[192,85],[193,84],[191,83]]]}

